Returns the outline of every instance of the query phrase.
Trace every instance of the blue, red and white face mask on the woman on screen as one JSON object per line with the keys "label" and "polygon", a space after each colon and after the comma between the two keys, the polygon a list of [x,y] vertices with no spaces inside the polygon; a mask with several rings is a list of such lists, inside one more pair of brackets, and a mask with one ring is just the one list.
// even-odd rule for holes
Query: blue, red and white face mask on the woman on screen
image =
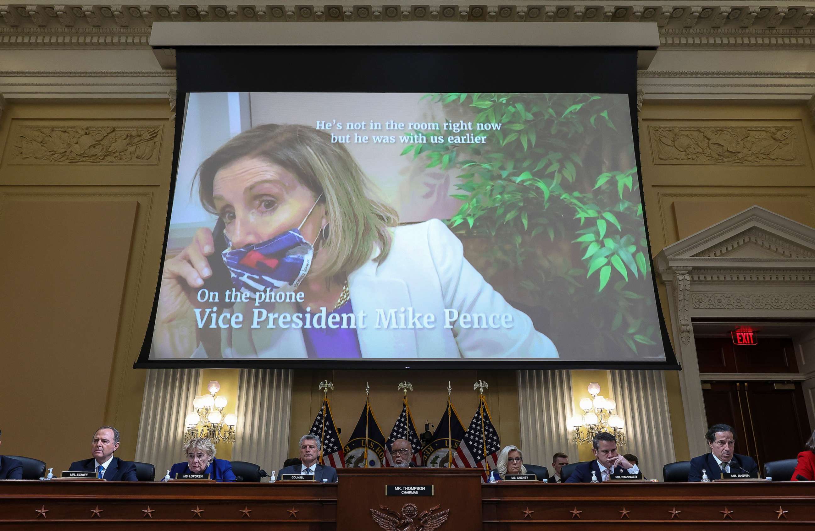
{"label": "blue, red and white face mask on the woman on screen", "polygon": [[250,294],[264,292],[267,288],[281,292],[297,289],[308,274],[314,257],[314,244],[303,238],[300,229],[322,196],[320,194],[315,204],[311,205],[300,226],[260,244],[233,249],[229,237],[224,234],[229,247],[221,256],[236,289]]}

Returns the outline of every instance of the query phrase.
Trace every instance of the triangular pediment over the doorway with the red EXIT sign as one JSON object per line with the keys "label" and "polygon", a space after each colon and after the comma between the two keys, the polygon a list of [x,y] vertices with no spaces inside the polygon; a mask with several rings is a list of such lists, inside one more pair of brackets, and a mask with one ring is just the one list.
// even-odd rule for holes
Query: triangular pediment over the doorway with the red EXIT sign
{"label": "triangular pediment over the doorway with the red EXIT sign", "polygon": [[657,268],[748,268],[751,270],[815,268],[815,229],[752,206],[663,248]]}

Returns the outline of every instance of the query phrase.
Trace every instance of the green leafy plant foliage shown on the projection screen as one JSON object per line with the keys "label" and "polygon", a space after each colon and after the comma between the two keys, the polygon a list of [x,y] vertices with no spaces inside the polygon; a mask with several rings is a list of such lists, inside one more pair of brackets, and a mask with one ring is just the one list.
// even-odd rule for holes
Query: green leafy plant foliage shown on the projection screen
{"label": "green leafy plant foliage shown on the projection screen", "polygon": [[[633,146],[617,126],[627,100],[601,94],[442,93],[423,99],[470,113],[486,143],[416,143],[403,156],[428,168],[456,169],[461,201],[449,226],[463,240],[488,242],[479,268],[504,293],[544,306],[544,331],[558,336],[592,327],[596,339],[570,358],[636,358],[654,345],[653,290]],[[452,110],[452,109],[451,109]],[[628,130],[628,125],[626,129]],[[526,304],[525,303],[525,304]],[[659,332],[657,332],[659,333]],[[584,334],[585,336],[585,334]],[[562,344],[562,342],[560,343]]]}

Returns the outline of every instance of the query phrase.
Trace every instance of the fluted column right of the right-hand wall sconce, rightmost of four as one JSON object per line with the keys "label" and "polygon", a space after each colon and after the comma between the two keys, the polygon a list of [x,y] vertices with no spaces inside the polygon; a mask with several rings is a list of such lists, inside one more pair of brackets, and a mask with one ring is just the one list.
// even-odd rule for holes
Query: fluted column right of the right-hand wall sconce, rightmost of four
{"label": "fluted column right of the right-hand wall sconce, rightmost of four", "polygon": [[663,371],[609,371],[609,381],[628,438],[621,450],[637,455],[646,477],[663,481],[663,465],[676,461]]}

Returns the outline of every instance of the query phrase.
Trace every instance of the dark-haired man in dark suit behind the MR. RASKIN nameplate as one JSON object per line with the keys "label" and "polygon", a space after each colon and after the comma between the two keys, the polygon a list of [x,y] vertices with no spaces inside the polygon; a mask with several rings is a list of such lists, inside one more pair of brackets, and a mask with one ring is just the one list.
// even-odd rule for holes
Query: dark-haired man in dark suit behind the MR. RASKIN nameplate
{"label": "dark-haired man in dark suit behind the MR. RASKIN nameplate", "polygon": [[705,439],[711,447],[711,453],[690,460],[688,481],[702,481],[703,471],[710,481],[720,479],[722,472],[729,474],[759,472],[759,467],[753,458],[734,453],[736,445],[734,433],[734,429],[727,424],[713,424],[707,430]]}

